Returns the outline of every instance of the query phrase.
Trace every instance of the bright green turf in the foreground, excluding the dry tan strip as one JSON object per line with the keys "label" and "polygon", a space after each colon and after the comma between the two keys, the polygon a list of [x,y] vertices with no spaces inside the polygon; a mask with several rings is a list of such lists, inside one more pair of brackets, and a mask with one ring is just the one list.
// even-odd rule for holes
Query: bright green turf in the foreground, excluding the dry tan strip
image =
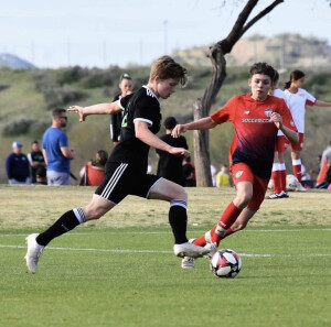
{"label": "bright green turf in the foreground, excluding the dry tan strip", "polygon": [[23,235],[1,235],[0,242],[1,326],[331,321],[330,229],[322,227],[249,228],[224,240],[222,247],[242,253],[234,280],[213,276],[206,259],[181,270],[164,228],[77,229],[50,244],[35,275],[25,272]]}

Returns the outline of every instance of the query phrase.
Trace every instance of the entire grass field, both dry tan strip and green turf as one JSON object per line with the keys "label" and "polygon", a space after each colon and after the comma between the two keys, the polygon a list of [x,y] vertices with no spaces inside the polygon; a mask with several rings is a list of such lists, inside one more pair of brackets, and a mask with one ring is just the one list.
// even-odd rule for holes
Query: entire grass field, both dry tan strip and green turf
{"label": "entire grass field, both dry tan strip and green turf", "polygon": [[[214,225],[232,189],[189,189],[188,236]],[[216,279],[206,259],[182,270],[168,204],[129,197],[103,219],[55,239],[38,274],[24,238],[86,204],[90,187],[0,186],[1,326],[331,325],[331,193],[269,200],[246,230],[221,243],[243,269]]]}

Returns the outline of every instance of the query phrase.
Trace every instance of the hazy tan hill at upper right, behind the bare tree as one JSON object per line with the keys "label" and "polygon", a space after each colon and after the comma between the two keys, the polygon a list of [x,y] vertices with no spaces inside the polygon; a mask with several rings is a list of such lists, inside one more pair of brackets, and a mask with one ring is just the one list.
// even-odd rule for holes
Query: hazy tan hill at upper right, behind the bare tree
{"label": "hazy tan hill at upper right, behind the bare tree", "polygon": [[[212,44],[211,44],[212,45]],[[174,51],[173,56],[192,66],[210,66],[206,52],[210,45]],[[227,54],[228,66],[248,66],[255,62],[267,62],[277,68],[330,67],[331,46],[325,40],[299,34],[278,34],[275,37],[254,35],[243,37]]]}

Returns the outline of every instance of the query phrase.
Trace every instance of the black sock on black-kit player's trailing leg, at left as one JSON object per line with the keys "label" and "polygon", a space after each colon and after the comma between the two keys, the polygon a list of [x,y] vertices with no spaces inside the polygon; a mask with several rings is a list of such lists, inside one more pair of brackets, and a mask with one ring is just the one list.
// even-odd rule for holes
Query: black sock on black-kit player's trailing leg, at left
{"label": "black sock on black-kit player's trailing leg, at left", "polygon": [[74,229],[79,225],[79,220],[75,216],[74,210],[63,214],[49,229],[36,237],[40,246],[47,246],[54,238]]}

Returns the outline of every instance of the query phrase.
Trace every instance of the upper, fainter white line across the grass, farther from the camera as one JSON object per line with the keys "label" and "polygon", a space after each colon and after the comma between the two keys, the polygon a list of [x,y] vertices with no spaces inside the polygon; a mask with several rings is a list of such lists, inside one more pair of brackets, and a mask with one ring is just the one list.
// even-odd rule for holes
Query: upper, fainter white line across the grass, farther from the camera
{"label": "upper, fainter white line across the grass, farther from the camera", "polygon": [[[309,229],[257,229],[257,230],[244,230],[241,232],[300,232],[300,231],[331,231],[331,228],[309,228]],[[192,230],[188,230],[188,233],[192,233]],[[204,233],[205,230],[194,230],[194,233]],[[171,233],[171,231],[93,231],[93,232],[70,232],[65,236],[86,236],[86,235],[164,235]],[[1,233],[1,237],[26,237],[26,233]]]}

